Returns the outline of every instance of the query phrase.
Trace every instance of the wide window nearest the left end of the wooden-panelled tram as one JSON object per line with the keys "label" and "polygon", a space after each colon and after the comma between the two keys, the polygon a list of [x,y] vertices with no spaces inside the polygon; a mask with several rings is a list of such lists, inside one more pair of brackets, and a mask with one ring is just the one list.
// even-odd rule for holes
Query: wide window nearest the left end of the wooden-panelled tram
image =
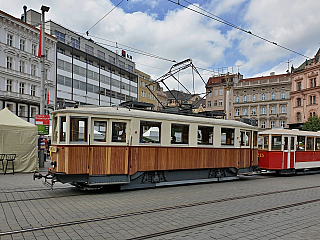
{"label": "wide window nearest the left end of the wooden-panelled tram", "polygon": [[70,117],[70,142],[87,142],[87,118]]}

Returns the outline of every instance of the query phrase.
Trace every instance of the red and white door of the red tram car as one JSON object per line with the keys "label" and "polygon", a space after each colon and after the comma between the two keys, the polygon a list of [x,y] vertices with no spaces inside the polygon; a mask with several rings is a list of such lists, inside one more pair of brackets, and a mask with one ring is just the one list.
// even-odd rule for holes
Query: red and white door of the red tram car
{"label": "red and white door of the red tram car", "polygon": [[282,169],[294,168],[295,163],[295,137],[283,137]]}

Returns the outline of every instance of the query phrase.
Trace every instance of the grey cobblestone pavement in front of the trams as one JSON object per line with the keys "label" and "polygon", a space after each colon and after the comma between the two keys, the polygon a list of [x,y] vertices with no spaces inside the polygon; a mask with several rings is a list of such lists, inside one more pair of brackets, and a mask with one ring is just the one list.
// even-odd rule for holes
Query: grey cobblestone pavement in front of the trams
{"label": "grey cobblestone pavement in front of the trams", "polygon": [[[46,163],[48,164],[48,163]],[[41,169],[44,171],[44,169]],[[0,175],[0,234],[94,218],[108,220],[0,235],[1,239],[130,239],[219,221],[264,209],[320,199],[320,174],[291,177],[253,175],[238,181],[123,192],[81,191],[70,185],[49,190],[32,174]],[[308,188],[309,187],[309,188]],[[305,188],[305,189],[299,189]],[[298,189],[295,191],[287,191]],[[228,200],[240,196],[269,195]],[[144,213],[151,209],[221,200]],[[153,239],[320,239],[320,201],[216,222]]]}

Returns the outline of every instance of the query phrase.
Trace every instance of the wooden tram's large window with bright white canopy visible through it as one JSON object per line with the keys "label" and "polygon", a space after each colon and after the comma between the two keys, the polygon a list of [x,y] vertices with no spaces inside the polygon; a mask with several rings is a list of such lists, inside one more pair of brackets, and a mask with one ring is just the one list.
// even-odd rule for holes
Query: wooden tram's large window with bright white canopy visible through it
{"label": "wooden tram's large window with bright white canopy visible through it", "polygon": [[140,143],[160,143],[161,122],[140,121]]}

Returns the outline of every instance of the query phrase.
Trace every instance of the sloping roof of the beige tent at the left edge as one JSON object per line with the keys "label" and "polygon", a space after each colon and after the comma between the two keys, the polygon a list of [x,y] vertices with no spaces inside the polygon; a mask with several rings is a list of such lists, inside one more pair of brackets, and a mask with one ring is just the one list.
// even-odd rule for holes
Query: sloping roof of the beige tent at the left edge
{"label": "sloping roof of the beige tent at the left edge", "polygon": [[19,118],[7,108],[4,108],[0,111],[0,128],[2,128],[3,126],[23,129],[32,128],[35,129],[35,131],[37,131],[38,128],[36,125],[28,123],[27,121]]}

